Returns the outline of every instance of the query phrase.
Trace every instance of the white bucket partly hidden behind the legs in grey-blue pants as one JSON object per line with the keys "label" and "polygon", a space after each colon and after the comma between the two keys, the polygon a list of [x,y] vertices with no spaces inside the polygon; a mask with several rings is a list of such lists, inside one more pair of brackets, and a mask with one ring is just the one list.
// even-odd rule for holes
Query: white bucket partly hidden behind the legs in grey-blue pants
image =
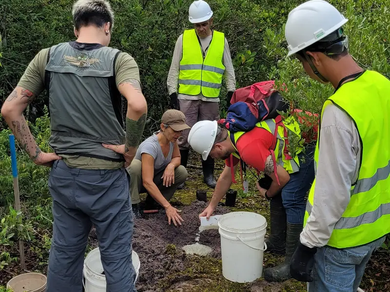
{"label": "white bucket partly hidden behind the legs in grey-blue pants", "polygon": [[[139,273],[139,257],[135,251],[132,253],[132,261],[136,270],[136,280]],[[85,277],[85,292],[106,292],[106,276],[103,273],[103,265],[101,264],[100,251],[97,247],[92,250],[84,260],[84,277]]]}

